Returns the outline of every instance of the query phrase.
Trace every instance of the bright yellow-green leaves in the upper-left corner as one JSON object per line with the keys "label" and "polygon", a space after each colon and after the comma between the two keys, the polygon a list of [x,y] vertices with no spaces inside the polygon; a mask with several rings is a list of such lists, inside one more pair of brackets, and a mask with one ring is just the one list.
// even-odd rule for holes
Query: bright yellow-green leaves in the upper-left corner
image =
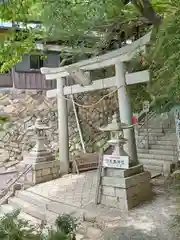
{"label": "bright yellow-green leaves in the upper-left corner", "polygon": [[[13,26],[0,33],[0,62],[3,63],[1,71],[7,71],[21,61],[24,53],[34,49],[35,40],[43,37],[41,29],[28,26],[33,15],[38,18],[38,14],[32,14],[35,6],[36,0],[8,0],[0,4],[1,22],[12,23]],[[19,23],[21,28],[18,27]]]}

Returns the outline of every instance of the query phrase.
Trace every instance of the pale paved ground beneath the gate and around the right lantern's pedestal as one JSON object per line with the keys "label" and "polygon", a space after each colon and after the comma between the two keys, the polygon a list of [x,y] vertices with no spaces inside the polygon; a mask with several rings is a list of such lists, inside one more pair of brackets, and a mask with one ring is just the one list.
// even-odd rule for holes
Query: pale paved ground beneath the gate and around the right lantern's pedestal
{"label": "pale paved ground beneath the gate and around the right lantern's pedestal", "polygon": [[63,176],[28,190],[53,201],[76,206],[77,211],[78,208],[84,210],[88,215],[87,221],[95,219],[96,227],[103,230],[105,240],[179,239],[169,228],[171,215],[176,213],[176,198],[169,195],[162,184],[161,186],[155,184],[153,187],[156,195],[152,201],[129,212],[93,204],[96,171]]}

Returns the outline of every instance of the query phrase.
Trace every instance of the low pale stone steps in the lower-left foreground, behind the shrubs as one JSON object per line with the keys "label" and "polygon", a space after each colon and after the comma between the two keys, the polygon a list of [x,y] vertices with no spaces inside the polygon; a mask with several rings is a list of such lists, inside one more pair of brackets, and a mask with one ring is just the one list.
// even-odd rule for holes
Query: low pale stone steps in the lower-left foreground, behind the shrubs
{"label": "low pale stone steps in the lower-left foreground, behind the shrubs", "polygon": [[101,226],[97,226],[85,210],[66,205],[59,202],[52,202],[29,190],[16,191],[15,196],[9,198],[7,204],[0,206],[0,216],[21,210],[19,218],[29,221],[37,228],[45,224],[53,226],[60,214],[69,214],[79,219],[80,226],[77,229],[76,240],[104,239]]}

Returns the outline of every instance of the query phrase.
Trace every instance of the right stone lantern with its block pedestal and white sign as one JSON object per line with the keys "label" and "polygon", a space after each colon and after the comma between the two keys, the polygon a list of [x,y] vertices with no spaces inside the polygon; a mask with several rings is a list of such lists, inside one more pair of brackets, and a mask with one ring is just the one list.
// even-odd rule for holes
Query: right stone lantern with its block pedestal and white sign
{"label": "right stone lantern with its block pedestal and white sign", "polygon": [[[111,155],[104,154],[100,166],[100,185],[97,187],[96,203],[129,210],[152,197],[150,173],[142,164],[132,164],[123,146],[123,129],[133,126],[118,121],[114,114],[112,121],[101,131],[110,132],[108,143],[114,147]],[[101,189],[101,190],[99,190]]]}

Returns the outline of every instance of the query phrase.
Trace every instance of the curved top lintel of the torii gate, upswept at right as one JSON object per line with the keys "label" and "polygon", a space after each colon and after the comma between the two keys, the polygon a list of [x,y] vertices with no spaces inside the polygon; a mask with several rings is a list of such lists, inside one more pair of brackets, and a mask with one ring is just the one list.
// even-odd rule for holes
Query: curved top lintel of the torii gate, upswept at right
{"label": "curved top lintel of the torii gate, upswept at right", "polygon": [[135,53],[137,53],[138,49],[144,49],[145,45],[150,40],[150,34],[146,34],[144,37],[138,39],[137,41],[133,42],[131,45],[126,45],[120,49],[111,51],[109,53],[83,60],[68,66],[59,67],[59,68],[41,68],[41,72],[46,75],[46,79],[55,79],[58,77],[67,76],[68,73],[66,68],[70,67],[77,67],[82,70],[92,70],[102,67],[107,67],[113,65],[117,60],[120,61],[129,61]]}

